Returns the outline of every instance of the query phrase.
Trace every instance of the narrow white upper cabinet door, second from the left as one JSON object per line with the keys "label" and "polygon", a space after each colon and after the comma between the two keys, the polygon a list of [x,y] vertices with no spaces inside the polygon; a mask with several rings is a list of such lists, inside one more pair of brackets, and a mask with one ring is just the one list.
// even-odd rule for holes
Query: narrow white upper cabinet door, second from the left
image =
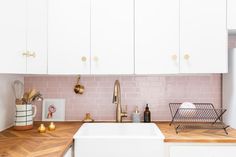
{"label": "narrow white upper cabinet door, second from the left", "polygon": [[27,0],[28,74],[47,73],[47,0]]}

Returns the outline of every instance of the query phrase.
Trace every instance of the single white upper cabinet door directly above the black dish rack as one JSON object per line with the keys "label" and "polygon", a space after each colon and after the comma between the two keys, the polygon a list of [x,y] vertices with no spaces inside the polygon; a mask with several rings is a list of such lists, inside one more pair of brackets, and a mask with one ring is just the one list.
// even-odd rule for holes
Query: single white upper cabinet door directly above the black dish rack
{"label": "single white upper cabinet door directly above the black dish rack", "polygon": [[227,72],[226,0],[180,1],[180,72]]}

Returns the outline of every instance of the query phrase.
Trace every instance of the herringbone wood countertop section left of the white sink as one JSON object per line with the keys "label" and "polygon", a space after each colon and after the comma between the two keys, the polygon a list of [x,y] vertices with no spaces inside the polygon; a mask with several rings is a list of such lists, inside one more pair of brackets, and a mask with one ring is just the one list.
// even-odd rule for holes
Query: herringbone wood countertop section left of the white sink
{"label": "herringbone wood countertop section left of the white sink", "polygon": [[[55,122],[56,130],[38,133],[41,122],[28,131],[9,128],[0,133],[0,157],[63,157],[81,122]],[[49,123],[42,122],[47,127]]]}

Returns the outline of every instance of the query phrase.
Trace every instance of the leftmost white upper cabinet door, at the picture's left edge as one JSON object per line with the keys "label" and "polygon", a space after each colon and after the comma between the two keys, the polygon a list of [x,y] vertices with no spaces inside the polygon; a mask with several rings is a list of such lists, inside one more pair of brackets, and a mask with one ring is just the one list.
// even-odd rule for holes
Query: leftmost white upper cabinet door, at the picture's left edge
{"label": "leftmost white upper cabinet door, at the picture's left edge", "polygon": [[0,72],[25,73],[26,0],[0,1]]}

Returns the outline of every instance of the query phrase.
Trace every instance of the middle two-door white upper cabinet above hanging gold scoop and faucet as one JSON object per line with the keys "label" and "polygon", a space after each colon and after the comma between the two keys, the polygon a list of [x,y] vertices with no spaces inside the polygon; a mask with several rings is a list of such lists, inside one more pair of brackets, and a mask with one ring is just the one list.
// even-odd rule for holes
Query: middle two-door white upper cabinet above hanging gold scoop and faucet
{"label": "middle two-door white upper cabinet above hanging gold scoop and faucet", "polygon": [[134,72],[133,0],[49,0],[48,14],[49,74]]}

